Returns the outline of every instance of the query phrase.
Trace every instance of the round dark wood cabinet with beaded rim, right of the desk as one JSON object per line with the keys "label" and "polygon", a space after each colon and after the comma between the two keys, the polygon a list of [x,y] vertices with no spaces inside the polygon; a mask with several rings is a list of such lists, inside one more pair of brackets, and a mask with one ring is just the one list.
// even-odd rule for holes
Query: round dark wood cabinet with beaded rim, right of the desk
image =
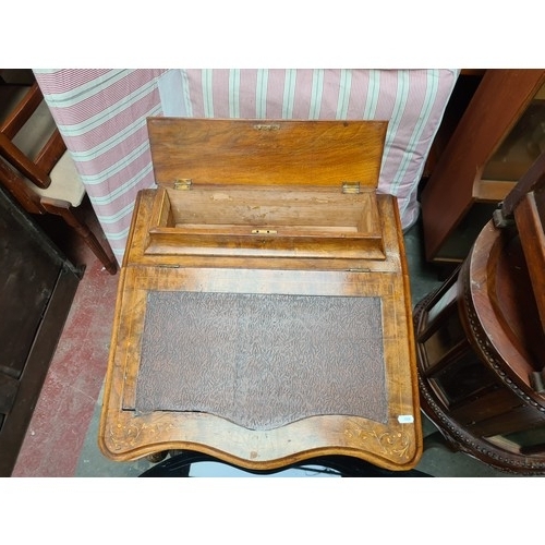
{"label": "round dark wood cabinet with beaded rim, right of the desk", "polygon": [[414,311],[421,403],[455,449],[545,474],[545,153]]}

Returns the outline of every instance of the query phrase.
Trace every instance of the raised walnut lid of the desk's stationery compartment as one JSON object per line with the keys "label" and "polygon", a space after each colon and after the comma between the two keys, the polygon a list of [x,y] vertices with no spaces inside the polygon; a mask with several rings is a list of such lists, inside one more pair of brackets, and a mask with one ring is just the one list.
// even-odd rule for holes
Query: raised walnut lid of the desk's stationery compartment
{"label": "raised walnut lid of the desk's stationery compartment", "polygon": [[387,122],[149,118],[155,181],[376,189]]}

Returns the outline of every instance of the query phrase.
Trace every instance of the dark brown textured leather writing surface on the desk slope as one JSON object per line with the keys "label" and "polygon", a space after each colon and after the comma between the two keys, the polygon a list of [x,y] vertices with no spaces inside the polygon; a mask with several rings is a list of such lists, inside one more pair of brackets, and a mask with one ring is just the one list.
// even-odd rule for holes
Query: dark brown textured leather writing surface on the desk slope
{"label": "dark brown textured leather writing surface on the desk slope", "polygon": [[380,298],[150,291],[136,411],[386,422]]}

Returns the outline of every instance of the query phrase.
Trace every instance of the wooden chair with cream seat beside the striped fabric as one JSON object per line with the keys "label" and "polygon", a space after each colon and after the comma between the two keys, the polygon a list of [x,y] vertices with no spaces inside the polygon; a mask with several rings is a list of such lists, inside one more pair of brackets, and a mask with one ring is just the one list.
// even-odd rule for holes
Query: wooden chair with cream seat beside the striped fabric
{"label": "wooden chair with cream seat beside the striped fabric", "polygon": [[0,183],[29,214],[53,214],[73,228],[112,275],[116,258],[74,210],[85,186],[38,84],[0,82]]}

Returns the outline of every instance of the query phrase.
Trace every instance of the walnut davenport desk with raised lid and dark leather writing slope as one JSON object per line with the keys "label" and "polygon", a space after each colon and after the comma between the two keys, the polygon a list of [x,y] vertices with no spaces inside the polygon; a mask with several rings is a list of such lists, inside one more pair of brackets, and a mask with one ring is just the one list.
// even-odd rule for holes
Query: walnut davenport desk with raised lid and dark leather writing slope
{"label": "walnut davenport desk with raised lid and dark leather writing slope", "polygon": [[150,118],[99,429],[126,461],[168,450],[242,469],[422,453],[386,122]]}

